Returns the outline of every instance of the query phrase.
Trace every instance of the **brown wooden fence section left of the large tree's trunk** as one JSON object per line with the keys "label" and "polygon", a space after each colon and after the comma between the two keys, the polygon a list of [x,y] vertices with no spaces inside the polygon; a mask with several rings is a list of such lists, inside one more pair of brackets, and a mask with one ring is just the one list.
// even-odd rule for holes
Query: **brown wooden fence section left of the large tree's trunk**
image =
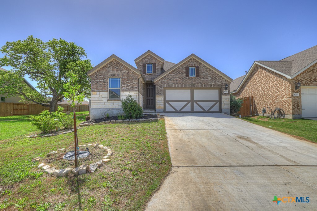
{"label": "brown wooden fence section left of the large tree's trunk", "polygon": [[40,114],[43,110],[49,110],[49,107],[33,103],[0,103],[0,116],[33,115]]}

